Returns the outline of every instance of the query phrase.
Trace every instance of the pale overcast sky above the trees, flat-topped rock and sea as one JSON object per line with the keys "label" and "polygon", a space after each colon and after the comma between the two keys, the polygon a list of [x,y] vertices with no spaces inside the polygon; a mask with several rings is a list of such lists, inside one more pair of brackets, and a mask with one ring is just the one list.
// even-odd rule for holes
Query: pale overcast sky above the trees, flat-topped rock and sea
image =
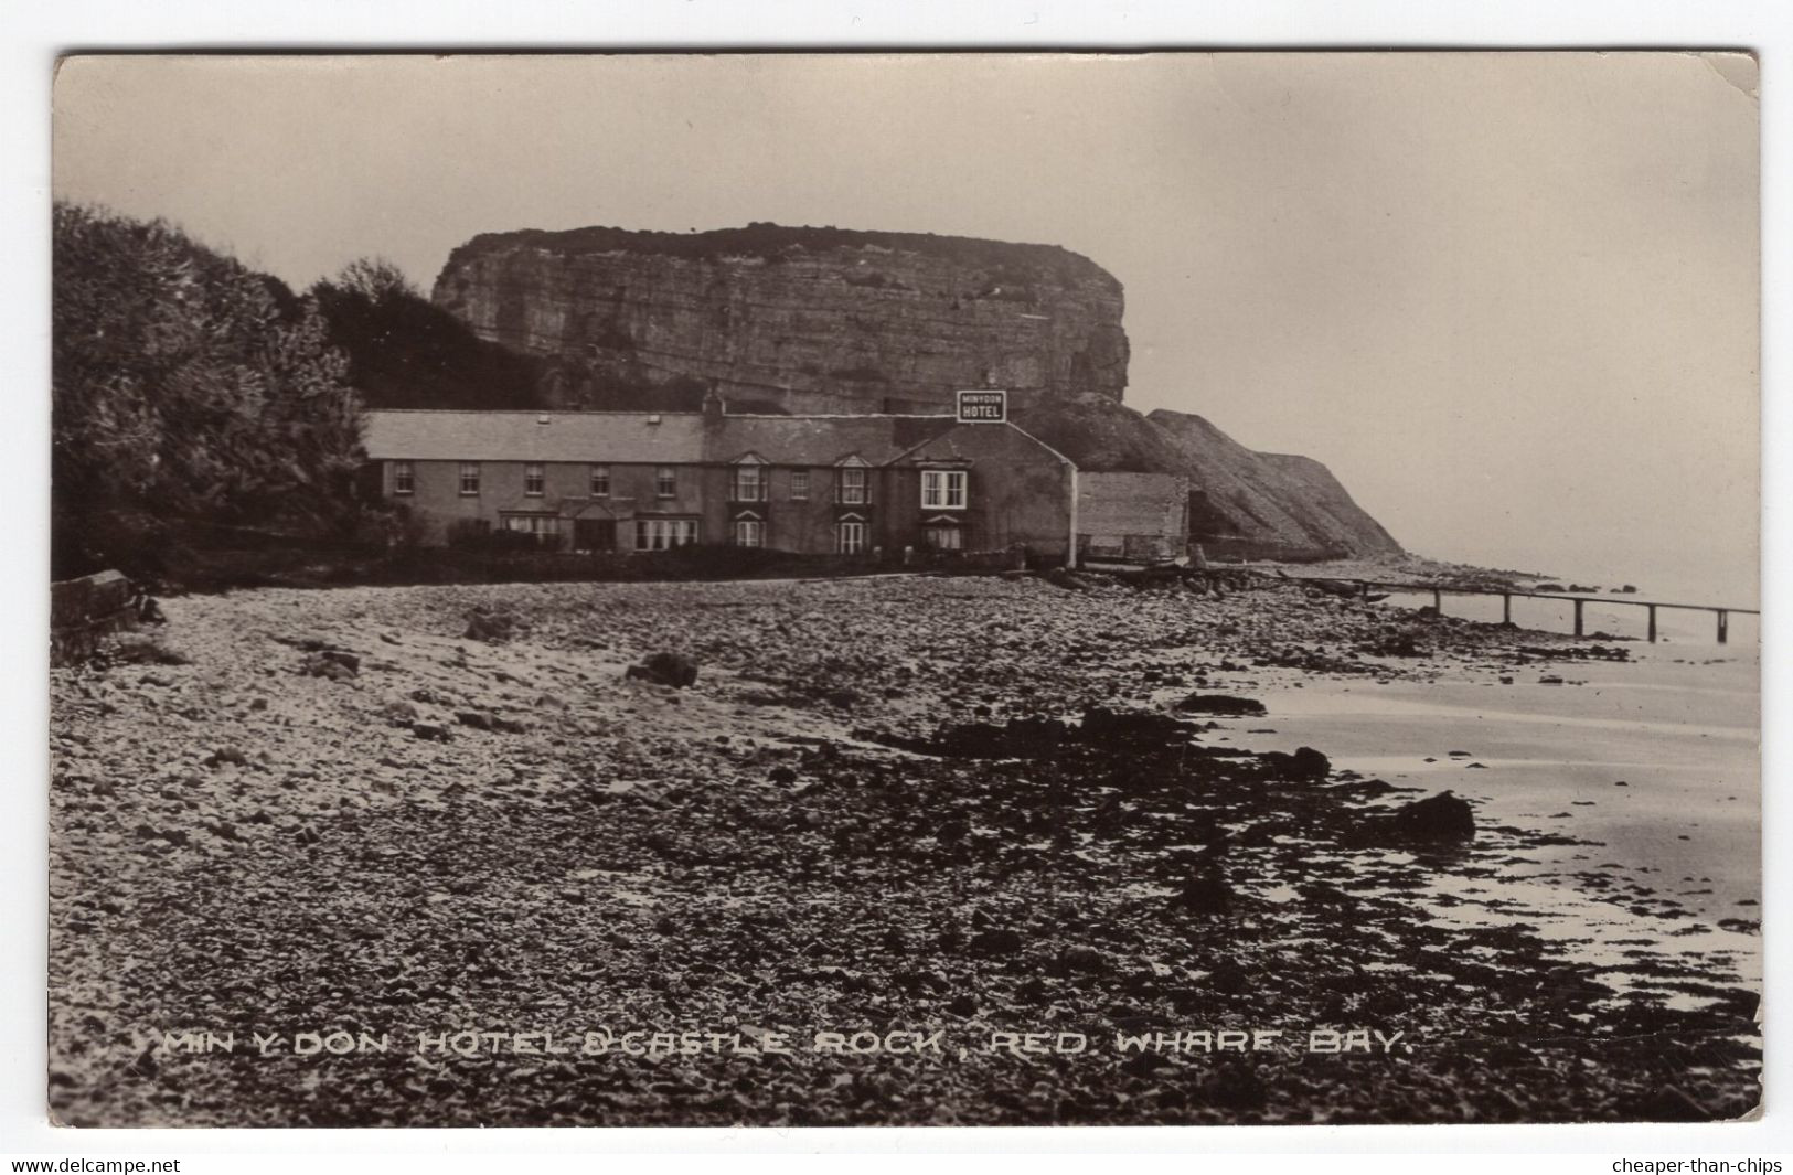
{"label": "pale overcast sky above the trees, flat-topped rock and sea", "polygon": [[1128,404],[1409,549],[1754,597],[1754,95],[1691,54],[74,59],[54,183],[296,287],[513,228],[1061,244],[1126,285]]}

